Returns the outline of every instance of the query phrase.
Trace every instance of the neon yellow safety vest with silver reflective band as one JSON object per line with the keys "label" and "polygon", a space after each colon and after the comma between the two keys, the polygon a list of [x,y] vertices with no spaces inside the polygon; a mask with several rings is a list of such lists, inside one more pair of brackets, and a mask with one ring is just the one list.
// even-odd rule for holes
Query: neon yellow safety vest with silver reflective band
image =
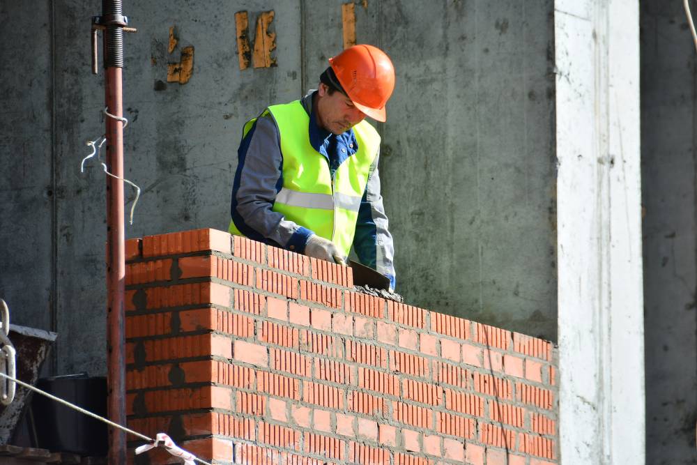
{"label": "neon yellow safety vest with silver reflective band", "polygon": [[[272,210],[330,239],[348,255],[370,167],[380,147],[380,135],[367,121],[355,125],[358,151],[339,165],[332,180],[327,160],[309,143],[309,115],[300,100],[272,105],[262,116],[268,113],[278,126],[283,154],[283,187]],[[245,124],[245,136],[254,121],[256,118]],[[243,236],[233,221],[229,232]]]}

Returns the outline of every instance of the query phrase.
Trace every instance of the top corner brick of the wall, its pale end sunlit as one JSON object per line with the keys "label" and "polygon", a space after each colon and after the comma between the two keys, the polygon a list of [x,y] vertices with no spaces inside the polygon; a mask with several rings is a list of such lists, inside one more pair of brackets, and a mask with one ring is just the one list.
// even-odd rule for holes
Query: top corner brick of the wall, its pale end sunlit
{"label": "top corner brick of the wall, its pale end sunlit", "polygon": [[230,235],[215,229],[195,229],[193,231],[146,236],[142,239],[143,257],[161,257],[204,250],[231,252]]}

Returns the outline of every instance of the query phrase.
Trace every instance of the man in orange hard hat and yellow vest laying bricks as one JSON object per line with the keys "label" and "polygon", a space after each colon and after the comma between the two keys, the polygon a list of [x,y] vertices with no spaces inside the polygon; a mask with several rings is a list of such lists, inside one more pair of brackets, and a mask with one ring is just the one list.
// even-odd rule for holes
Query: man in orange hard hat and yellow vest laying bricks
{"label": "man in orange hard hat and yellow vest laying bricks", "polygon": [[394,289],[380,136],[364,119],[385,121],[395,69],[381,49],[354,45],[329,59],[319,80],[301,100],[245,124],[229,231],[338,264],[353,245]]}

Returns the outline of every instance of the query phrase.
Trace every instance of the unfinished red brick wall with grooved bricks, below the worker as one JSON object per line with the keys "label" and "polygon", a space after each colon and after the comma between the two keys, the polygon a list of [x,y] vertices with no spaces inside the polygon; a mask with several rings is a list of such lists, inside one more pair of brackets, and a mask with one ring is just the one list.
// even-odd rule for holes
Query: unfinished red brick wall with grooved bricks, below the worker
{"label": "unfinished red brick wall with grooved bricks, below the worker", "polygon": [[358,294],[350,268],[213,229],[126,250],[139,432],[217,463],[558,463],[549,342]]}

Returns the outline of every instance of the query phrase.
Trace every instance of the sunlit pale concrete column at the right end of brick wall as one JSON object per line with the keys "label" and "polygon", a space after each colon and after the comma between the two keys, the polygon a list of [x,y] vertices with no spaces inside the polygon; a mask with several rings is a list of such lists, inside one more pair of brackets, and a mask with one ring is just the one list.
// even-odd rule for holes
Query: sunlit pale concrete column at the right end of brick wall
{"label": "sunlit pale concrete column at the right end of brick wall", "polygon": [[636,0],[556,0],[560,453],[643,464]]}

